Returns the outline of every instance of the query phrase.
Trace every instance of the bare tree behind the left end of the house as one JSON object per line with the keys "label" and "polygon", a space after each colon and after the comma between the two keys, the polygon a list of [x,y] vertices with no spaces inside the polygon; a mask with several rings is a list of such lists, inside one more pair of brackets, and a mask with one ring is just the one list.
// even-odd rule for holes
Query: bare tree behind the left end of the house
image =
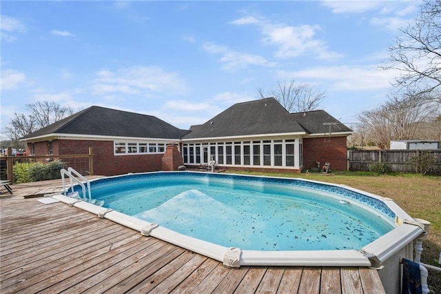
{"label": "bare tree behind the left end of the house", "polygon": [[53,101],[37,101],[25,106],[29,114],[15,112],[10,125],[6,126],[6,135],[14,147],[20,146],[19,139],[21,137],[74,113],[70,106],[63,107]]}

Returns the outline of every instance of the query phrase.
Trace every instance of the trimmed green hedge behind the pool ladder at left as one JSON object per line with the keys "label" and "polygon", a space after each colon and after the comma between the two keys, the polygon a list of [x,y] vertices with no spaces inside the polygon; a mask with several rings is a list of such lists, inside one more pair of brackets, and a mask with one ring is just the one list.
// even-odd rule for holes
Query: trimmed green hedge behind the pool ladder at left
{"label": "trimmed green hedge behind the pool ladder at left", "polygon": [[45,181],[47,179],[59,179],[61,177],[61,168],[65,168],[65,164],[55,160],[48,164],[43,164],[43,162],[16,163],[12,170],[14,173],[14,182],[28,183]]}

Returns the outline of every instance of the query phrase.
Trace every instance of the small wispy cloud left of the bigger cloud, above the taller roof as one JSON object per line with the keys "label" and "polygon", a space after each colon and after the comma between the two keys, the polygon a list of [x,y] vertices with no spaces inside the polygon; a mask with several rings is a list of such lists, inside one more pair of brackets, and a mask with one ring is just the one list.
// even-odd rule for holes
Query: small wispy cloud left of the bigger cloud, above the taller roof
{"label": "small wispy cloud left of the bigger cloud, above the taller roof", "polygon": [[222,55],[220,61],[224,63],[223,70],[237,70],[238,68],[247,68],[248,66],[276,66],[276,63],[267,61],[267,59],[260,55],[229,50],[226,46],[210,42],[203,43],[203,49],[209,53]]}

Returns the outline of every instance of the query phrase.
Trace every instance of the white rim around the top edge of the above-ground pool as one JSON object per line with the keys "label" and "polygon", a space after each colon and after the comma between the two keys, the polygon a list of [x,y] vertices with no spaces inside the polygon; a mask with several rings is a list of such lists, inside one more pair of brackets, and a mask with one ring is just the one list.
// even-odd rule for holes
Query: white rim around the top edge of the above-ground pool
{"label": "white rim around the top edge of the above-ground pool", "polygon": [[[164,172],[160,172],[164,173]],[[197,172],[194,172],[197,173]],[[117,176],[119,177],[119,176]],[[249,175],[247,175],[249,177]],[[277,178],[277,177],[271,177]],[[103,179],[103,178],[101,178]],[[286,178],[283,178],[286,179]],[[131,217],[110,208],[103,208],[88,202],[74,199],[65,195],[56,194],[50,197],[70,206],[81,208],[99,217],[110,219],[113,222],[132,228],[146,236],[156,237],[165,242],[180,246],[189,251],[205,255],[225,266],[378,266],[389,257],[396,254],[409,243],[424,233],[424,225],[410,217],[392,199],[373,195],[362,190],[345,185],[329,184],[325,182],[307,182],[340,186],[356,193],[380,199],[396,214],[396,228],[382,235],[375,241],[367,244],[360,250],[329,250],[329,251],[251,251],[240,248],[220,246],[201,239],[189,237],[170,229]],[[236,256],[235,256],[236,255]],[[234,260],[236,259],[236,260]]]}

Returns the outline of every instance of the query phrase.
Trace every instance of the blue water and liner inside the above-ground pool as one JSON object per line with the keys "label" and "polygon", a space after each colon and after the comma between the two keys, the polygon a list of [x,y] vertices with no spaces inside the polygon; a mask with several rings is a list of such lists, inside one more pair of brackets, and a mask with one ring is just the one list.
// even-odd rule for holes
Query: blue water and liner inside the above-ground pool
{"label": "blue water and liner inside the above-ground pool", "polygon": [[91,186],[104,207],[243,250],[357,250],[393,229],[378,199],[295,179],[151,173]]}

